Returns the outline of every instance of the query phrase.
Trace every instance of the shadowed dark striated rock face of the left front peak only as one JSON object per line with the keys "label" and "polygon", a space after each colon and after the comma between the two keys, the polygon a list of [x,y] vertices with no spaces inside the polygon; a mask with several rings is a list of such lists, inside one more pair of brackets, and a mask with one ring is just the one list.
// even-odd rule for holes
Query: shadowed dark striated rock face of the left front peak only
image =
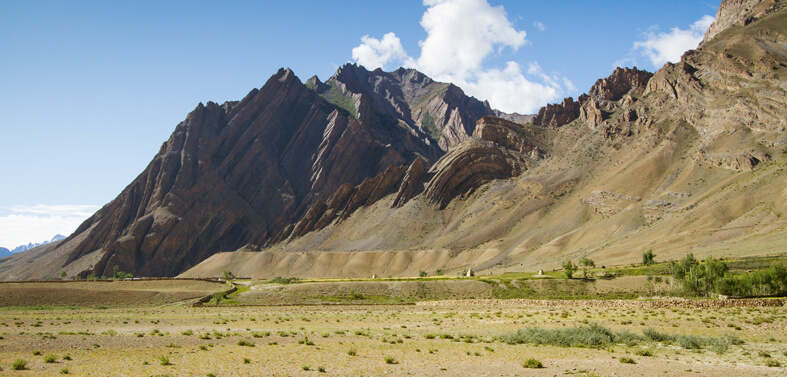
{"label": "shadowed dark striated rock face of the left front peak only", "polygon": [[379,183],[368,193],[361,185],[367,197],[341,195],[346,185],[390,169],[401,172],[388,180],[401,179],[405,168],[397,167],[417,156],[440,155],[395,119],[374,112],[364,119],[284,69],[240,102],[200,104],[145,171],[72,235],[89,232],[68,262],[102,250],[97,275],[115,265],[136,275],[173,275],[218,251],[265,245],[286,229],[308,231],[339,199],[357,206],[395,192]]}

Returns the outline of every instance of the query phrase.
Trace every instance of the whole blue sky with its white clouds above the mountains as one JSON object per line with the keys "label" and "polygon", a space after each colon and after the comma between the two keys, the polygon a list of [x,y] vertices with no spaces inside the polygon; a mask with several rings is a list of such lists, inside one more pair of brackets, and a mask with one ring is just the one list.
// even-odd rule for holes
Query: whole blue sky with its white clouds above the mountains
{"label": "whole blue sky with its white clouds above the mountains", "polygon": [[0,246],[73,231],[199,102],[241,99],[279,67],[305,81],[348,62],[407,65],[532,112],[616,65],[657,70],[718,5],[0,1]]}

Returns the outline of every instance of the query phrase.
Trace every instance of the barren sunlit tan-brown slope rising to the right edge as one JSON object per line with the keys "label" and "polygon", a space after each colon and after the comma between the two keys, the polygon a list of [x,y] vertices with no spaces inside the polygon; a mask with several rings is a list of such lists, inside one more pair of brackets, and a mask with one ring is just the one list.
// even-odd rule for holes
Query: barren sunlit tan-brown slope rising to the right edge
{"label": "barren sunlit tan-brown slope rising to the right edge", "polygon": [[[313,276],[303,268],[318,266],[313,251],[433,252],[449,258],[432,268],[447,270],[468,267],[455,260],[470,252],[486,258],[473,267],[489,272],[555,268],[584,256],[634,263],[648,249],[659,259],[783,254],[787,9],[774,4],[780,10],[734,24],[652,77],[618,70],[578,102],[547,109],[542,119],[568,123],[551,124],[549,156],[522,175],[485,183],[444,209],[424,194],[391,208],[391,196],[264,258],[210,263],[243,265],[252,276]],[[564,113],[573,115],[547,117]],[[320,271],[338,275],[346,260],[323,262],[330,263],[321,260]],[[431,266],[399,263],[402,274]]]}

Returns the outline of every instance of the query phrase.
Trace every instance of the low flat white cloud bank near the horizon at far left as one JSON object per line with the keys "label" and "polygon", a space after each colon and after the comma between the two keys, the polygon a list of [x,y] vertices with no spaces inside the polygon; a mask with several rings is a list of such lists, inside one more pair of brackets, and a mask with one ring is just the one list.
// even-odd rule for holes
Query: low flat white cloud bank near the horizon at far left
{"label": "low flat white cloud bank near the horizon at far left", "polygon": [[0,246],[13,249],[29,242],[50,240],[56,234],[68,236],[99,206],[44,205],[3,208],[0,216]]}

